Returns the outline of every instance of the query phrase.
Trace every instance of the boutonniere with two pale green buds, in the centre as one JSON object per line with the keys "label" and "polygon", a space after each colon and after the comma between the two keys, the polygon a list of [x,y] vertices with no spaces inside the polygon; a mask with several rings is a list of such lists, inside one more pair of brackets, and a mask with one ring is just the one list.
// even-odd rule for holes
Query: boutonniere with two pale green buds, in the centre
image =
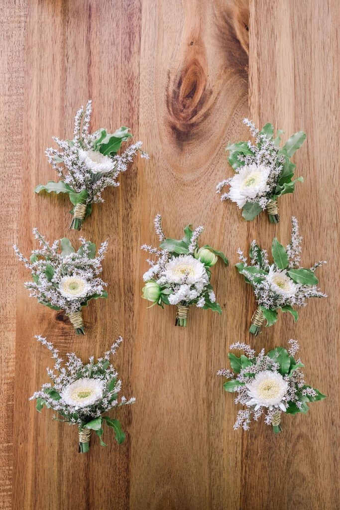
{"label": "boutonniere with two pale green buds, in the centre", "polygon": [[147,261],[151,267],[143,276],[146,284],[142,297],[162,308],[164,304],[175,304],[176,326],[187,326],[188,310],[193,304],[221,314],[221,307],[216,302],[210,283],[211,268],[218,257],[228,265],[227,258],[209,245],[199,248],[198,238],[203,232],[203,226],[193,231],[192,225],[188,225],[182,239],[166,239],[161,221],[161,216],[156,215],[154,226],[161,242],[160,248],[146,244],[141,246],[157,258],[156,261]]}

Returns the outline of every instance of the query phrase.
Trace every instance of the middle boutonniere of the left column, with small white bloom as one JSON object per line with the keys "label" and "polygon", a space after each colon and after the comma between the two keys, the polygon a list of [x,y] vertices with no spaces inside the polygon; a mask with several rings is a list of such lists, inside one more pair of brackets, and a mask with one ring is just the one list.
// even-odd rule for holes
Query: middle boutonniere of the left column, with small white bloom
{"label": "middle boutonniere of the left column, with small white bloom", "polygon": [[30,297],[37,298],[39,303],[52,310],[63,310],[75,333],[85,335],[82,308],[91,299],[108,297],[104,290],[108,284],[98,277],[108,242],[101,243],[96,257],[96,245],[83,238],[75,251],[66,238],[50,246],[37,228],[33,229],[33,234],[39,241],[39,249],[32,251],[30,260],[14,245],[16,256],[32,272],[33,282],[26,282],[25,288],[32,291]]}

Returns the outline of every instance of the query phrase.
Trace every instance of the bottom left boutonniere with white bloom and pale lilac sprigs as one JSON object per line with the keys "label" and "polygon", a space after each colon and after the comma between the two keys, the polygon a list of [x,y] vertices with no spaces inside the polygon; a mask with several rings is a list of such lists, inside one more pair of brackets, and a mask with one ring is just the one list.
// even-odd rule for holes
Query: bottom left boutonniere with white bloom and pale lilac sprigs
{"label": "bottom left boutonniere with white bloom and pale lilac sprigs", "polygon": [[98,358],[97,363],[94,363],[92,356],[89,363],[84,365],[72,352],[66,354],[68,361],[62,366],[64,362],[59,357],[58,349],[40,335],[35,338],[47,347],[55,360],[53,369],[47,368],[52,383],[43,384],[30,398],[37,400],[37,411],[40,413],[44,406],[47,409],[51,407],[62,417],[59,419],[54,415],[54,420],[78,425],[81,453],[89,451],[91,430],[95,431],[101,446],[107,446],[101,439],[104,423],[114,429],[117,443],[123,443],[125,434],[119,420],[103,416],[113,407],[132,404],[136,400],[121,397],[120,402],[118,401],[122,383],[117,379],[118,373],[110,363],[110,356],[115,354],[123,339],[119,337],[111,349],[104,353],[103,358]]}

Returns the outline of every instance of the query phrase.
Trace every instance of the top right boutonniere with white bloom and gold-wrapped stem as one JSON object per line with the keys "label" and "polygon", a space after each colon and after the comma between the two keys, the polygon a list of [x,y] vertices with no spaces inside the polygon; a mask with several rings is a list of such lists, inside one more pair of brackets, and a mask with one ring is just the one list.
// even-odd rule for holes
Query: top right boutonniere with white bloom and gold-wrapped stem
{"label": "top right boutonniere with white bloom and gold-wrapped stem", "polygon": [[248,141],[227,146],[228,161],[236,175],[219,183],[216,191],[221,193],[224,186],[230,186],[221,200],[236,202],[243,209],[245,220],[254,219],[266,209],[271,223],[278,223],[278,197],[293,193],[295,183],[303,182],[302,177],[292,180],[296,165],[290,158],[301,147],[306,135],[299,131],[280,148],[283,131],[278,130],[274,138],[274,127],[270,123],[261,131],[248,119],[243,123],[249,127],[254,143]]}

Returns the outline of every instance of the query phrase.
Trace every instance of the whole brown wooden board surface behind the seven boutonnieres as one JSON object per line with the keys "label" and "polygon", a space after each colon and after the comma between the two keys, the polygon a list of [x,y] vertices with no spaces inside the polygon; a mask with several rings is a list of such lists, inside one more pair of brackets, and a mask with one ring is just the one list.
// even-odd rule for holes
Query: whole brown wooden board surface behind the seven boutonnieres
{"label": "whole brown wooden board surface behind the seven boutonnieres", "polygon": [[[13,510],[336,510],[339,378],[339,166],[337,0],[4,0],[0,33],[0,246],[3,278],[0,490]],[[249,31],[248,31],[249,29]],[[70,137],[73,116],[93,100],[92,127],[128,125],[151,159],[139,160],[108,189],[82,234],[109,239],[104,279],[109,299],[85,311],[87,336],[28,297],[29,274],[13,257],[36,247],[37,226],[49,240],[67,230],[62,196],[36,196],[54,179],[44,149]],[[242,119],[272,121],[287,135],[304,130],[297,153],[305,183],[281,200],[281,222],[266,215],[245,223],[221,203],[215,185],[231,175],[224,147],[247,137]],[[203,242],[226,252],[215,267],[223,315],[192,310],[187,329],[174,309],[146,309],[142,243],[155,243],[152,220],[166,233],[205,225]],[[270,247],[289,240],[300,220],[303,264],[319,270],[326,300],[314,300],[296,325],[286,314],[256,339],[248,326],[251,289],[233,264],[256,237]],[[77,454],[77,431],[39,415],[28,397],[47,380],[46,336],[65,353],[100,355],[119,335],[115,365],[126,396],[137,403],[117,416],[127,432],[110,431],[102,448]],[[305,375],[328,398],[307,416],[286,416],[274,437],[264,423],[233,431],[237,408],[216,376],[237,340],[259,349],[289,338],[301,344]]]}

